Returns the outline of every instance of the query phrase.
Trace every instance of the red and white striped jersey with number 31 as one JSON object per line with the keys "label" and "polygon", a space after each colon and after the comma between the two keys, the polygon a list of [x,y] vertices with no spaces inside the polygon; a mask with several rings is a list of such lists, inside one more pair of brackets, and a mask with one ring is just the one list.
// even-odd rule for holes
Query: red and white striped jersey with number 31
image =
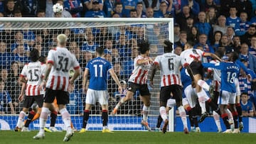
{"label": "red and white striped jersey with number 31", "polygon": [[80,68],[78,60],[67,48],[55,48],[48,52],[48,63],[53,65],[50,70],[46,87],[53,90],[68,92],[69,70]]}

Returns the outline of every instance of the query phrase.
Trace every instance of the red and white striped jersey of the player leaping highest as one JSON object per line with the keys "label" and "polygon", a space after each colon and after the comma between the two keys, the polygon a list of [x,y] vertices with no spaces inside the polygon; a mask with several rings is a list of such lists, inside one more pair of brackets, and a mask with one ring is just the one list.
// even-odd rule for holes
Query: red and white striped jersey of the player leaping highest
{"label": "red and white striped jersey of the player leaping highest", "polygon": [[191,62],[193,62],[194,60],[201,61],[203,55],[204,55],[204,52],[202,50],[199,50],[199,49],[191,48],[191,49],[184,50],[183,52],[181,52],[181,58],[183,59],[182,60],[182,65],[184,65],[186,63],[188,65],[190,65]]}

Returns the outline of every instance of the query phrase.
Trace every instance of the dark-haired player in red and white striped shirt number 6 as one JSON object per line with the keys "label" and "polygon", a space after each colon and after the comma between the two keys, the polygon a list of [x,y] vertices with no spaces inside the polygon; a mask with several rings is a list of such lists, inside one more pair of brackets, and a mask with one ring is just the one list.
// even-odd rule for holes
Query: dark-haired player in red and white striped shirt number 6
{"label": "dark-haired player in red and white striped shirt number 6", "polygon": [[176,106],[181,115],[181,119],[184,126],[184,133],[188,133],[188,125],[186,120],[186,111],[182,105],[182,84],[181,84],[181,57],[171,53],[173,43],[169,40],[164,41],[164,54],[159,55],[154,60],[152,67],[152,74],[150,84],[153,87],[153,79],[156,70],[160,70],[161,74],[161,91],[160,91],[160,108],[159,112],[161,118],[164,120],[164,126],[162,128],[163,133],[166,133],[168,126],[168,118],[166,113],[167,100],[171,98],[171,93],[176,99]]}

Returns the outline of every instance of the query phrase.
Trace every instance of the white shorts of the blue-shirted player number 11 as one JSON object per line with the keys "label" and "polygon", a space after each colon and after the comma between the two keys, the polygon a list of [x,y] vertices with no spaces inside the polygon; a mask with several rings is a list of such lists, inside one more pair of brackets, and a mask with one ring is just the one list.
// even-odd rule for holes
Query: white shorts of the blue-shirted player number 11
{"label": "white shorts of the blue-shirted player number 11", "polygon": [[99,102],[100,105],[108,105],[107,90],[87,90],[85,103],[95,105],[96,102]]}

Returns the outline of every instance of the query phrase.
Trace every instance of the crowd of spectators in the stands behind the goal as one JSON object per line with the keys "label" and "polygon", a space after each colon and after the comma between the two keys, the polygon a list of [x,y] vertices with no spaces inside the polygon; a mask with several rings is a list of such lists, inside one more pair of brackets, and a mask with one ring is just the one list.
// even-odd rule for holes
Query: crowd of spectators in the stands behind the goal
{"label": "crowd of spectators in the stands behind the goal", "polygon": [[[53,5],[56,3],[63,6],[63,12],[53,12]],[[194,48],[201,48],[206,52],[223,49],[228,55],[235,51],[253,74],[256,72],[255,9],[256,1],[253,0],[0,0],[1,17],[174,18],[174,52],[177,55],[187,41],[192,41]],[[151,29],[153,31],[148,33]],[[24,63],[29,62],[28,53],[36,48],[41,52],[41,57],[46,57],[48,50],[56,46],[58,33],[68,36],[67,47],[78,58],[81,67],[85,67],[88,60],[94,57],[97,46],[104,46],[105,57],[112,62],[119,79],[127,82],[129,74],[132,73],[133,59],[139,55],[137,43],[144,38],[149,39],[152,53],[161,53],[159,43],[164,39],[161,38],[161,32],[166,33],[158,25],[66,28],[57,31],[1,30],[0,76],[9,98],[4,96],[6,93],[0,94],[0,111],[18,113],[21,106],[17,99],[21,90],[18,75]],[[148,38],[147,34],[151,37]],[[209,60],[205,59],[203,62]],[[255,82],[256,77],[248,82],[241,72],[240,88],[247,94],[254,111],[253,115],[247,116],[255,115]],[[112,84],[112,79],[108,85],[111,103],[114,103],[118,100],[114,97],[117,87]],[[71,95],[82,98],[73,98],[74,103],[84,100],[83,94],[78,94],[80,86],[81,78],[75,84]],[[11,110],[8,99],[11,99],[14,111]],[[81,110],[75,110],[75,113],[79,114]]]}

